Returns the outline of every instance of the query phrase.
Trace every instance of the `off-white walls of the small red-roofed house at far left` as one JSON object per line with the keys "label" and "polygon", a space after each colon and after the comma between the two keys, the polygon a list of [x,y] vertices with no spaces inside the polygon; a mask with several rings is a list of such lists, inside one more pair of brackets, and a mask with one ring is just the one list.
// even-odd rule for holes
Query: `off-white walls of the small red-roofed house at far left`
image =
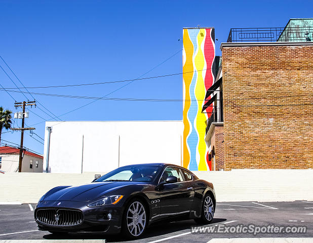
{"label": "off-white walls of the small red-roofed house at far left", "polygon": [[[16,172],[19,164],[19,154],[3,154],[1,170],[4,172]],[[32,169],[29,168],[30,160],[33,160]],[[36,168],[36,161],[38,167]],[[24,154],[22,160],[22,172],[43,172],[43,159]]]}

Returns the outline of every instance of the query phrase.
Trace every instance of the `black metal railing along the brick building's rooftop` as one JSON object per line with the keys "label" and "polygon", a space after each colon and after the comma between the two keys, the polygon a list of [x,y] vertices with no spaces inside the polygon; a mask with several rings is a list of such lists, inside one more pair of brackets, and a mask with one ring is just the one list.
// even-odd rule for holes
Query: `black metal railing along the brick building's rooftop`
{"label": "black metal railing along the brick building's rooftop", "polygon": [[313,26],[278,28],[232,28],[227,42],[310,42]]}

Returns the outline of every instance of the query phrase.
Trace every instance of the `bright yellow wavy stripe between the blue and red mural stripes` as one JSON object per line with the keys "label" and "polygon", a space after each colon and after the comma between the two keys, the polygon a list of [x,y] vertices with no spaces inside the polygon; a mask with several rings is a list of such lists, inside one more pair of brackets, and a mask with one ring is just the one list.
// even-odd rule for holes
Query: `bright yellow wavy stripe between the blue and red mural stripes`
{"label": "bright yellow wavy stripe between the blue and red mural stripes", "polygon": [[[200,29],[199,34],[197,36],[198,38],[198,53],[194,57],[194,64],[195,68],[197,70],[203,70],[205,65],[205,57],[202,50],[202,42],[204,41],[206,35],[205,29]],[[198,141],[198,151],[200,155],[200,161],[198,164],[198,170],[199,171],[207,171],[206,166],[206,143],[205,143],[205,131],[206,131],[206,115],[202,113],[202,103],[205,99],[206,94],[206,88],[204,85],[204,77],[202,76],[202,71],[198,72],[197,76],[197,83],[195,84],[195,90],[194,90],[195,98],[198,102],[198,113],[196,118],[196,127],[199,135],[199,141]]]}

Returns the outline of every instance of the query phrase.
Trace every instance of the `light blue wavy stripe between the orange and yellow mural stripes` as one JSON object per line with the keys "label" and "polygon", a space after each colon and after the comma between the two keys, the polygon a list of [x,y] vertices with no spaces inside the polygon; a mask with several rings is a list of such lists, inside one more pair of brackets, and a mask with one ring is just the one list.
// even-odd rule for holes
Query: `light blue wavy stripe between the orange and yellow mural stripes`
{"label": "light blue wavy stripe between the orange and yellow mural stripes", "polygon": [[[190,36],[190,40],[193,44],[193,56],[195,54],[195,51],[197,51],[197,36],[199,33],[199,29],[188,29],[188,33]],[[194,68],[193,68],[194,69]],[[188,119],[191,123],[191,133],[189,135],[189,137],[187,138],[187,144],[189,146],[190,149],[190,164],[189,164],[189,170],[191,171],[198,171],[198,165],[197,165],[197,160],[195,158],[195,154],[197,152],[197,144],[199,141],[199,137],[197,132],[195,131],[194,128],[194,122],[195,122],[195,117],[197,116],[197,112],[198,112],[198,102],[195,100],[195,95],[194,95],[194,87],[195,87],[195,83],[197,82],[197,76],[198,73],[194,72],[192,80],[191,80],[191,84],[190,84],[190,100],[191,100],[191,104],[190,104],[190,108],[188,110]]]}

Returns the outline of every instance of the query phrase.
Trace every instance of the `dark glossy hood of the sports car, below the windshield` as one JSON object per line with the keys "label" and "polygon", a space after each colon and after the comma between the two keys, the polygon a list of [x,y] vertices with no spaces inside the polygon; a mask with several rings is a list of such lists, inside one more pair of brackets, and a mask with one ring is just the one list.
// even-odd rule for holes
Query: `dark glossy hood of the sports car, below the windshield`
{"label": "dark glossy hood of the sports car, below the windshield", "polygon": [[[44,198],[45,201],[90,201],[105,195],[111,191],[131,184],[138,184],[135,182],[93,182],[81,186],[62,187],[58,191],[47,193]],[[139,183],[141,184],[141,183]],[[118,193],[118,192],[116,192]]]}

